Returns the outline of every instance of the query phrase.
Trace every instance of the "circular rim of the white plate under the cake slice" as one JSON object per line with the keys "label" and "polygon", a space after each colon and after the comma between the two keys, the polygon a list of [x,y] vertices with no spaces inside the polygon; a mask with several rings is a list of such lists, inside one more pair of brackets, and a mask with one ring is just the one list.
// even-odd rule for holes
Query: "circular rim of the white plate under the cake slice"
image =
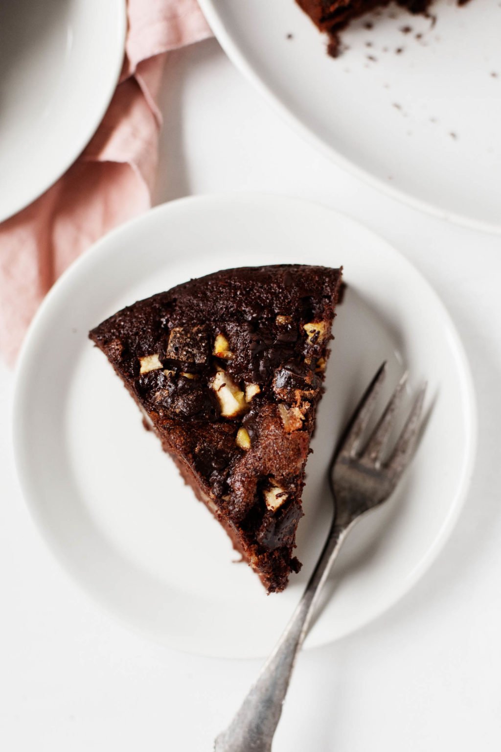
{"label": "circular rim of the white plate under the cake slice", "polygon": [[233,202],[239,202],[243,204],[245,204],[246,202],[258,202],[260,204],[261,202],[264,204],[268,204],[269,202],[279,202],[280,204],[289,206],[294,205],[294,203],[306,206],[309,205],[317,209],[321,209],[322,211],[329,212],[331,216],[337,217],[337,219],[340,219],[343,223],[346,223],[346,226],[352,226],[358,230],[362,229],[368,235],[373,236],[379,242],[382,242],[385,245],[385,250],[389,254],[397,257],[400,262],[403,262],[407,266],[407,268],[409,268],[409,271],[416,277],[418,277],[421,284],[424,284],[424,286],[427,287],[429,292],[433,295],[433,299],[435,299],[436,305],[439,306],[442,315],[445,317],[445,320],[448,323],[449,332],[454,336],[454,351],[457,353],[457,356],[460,359],[460,371],[458,372],[463,384],[463,395],[466,398],[464,402],[464,409],[466,425],[468,426],[465,441],[466,461],[463,463],[462,474],[459,481],[457,482],[455,498],[451,502],[451,506],[448,509],[447,517],[445,518],[441,529],[439,529],[439,531],[437,532],[433,544],[431,544],[427,549],[425,555],[418,562],[418,565],[415,566],[415,569],[412,571],[411,575],[409,575],[409,577],[402,582],[400,588],[397,588],[397,590],[394,591],[396,594],[394,594],[394,596],[391,598],[391,601],[389,603],[383,602],[379,608],[376,608],[376,610],[373,611],[373,614],[370,614],[369,617],[361,621],[361,623],[359,623],[357,626],[347,628],[339,635],[333,637],[330,640],[321,640],[311,643],[308,639],[306,639],[305,647],[303,649],[320,649],[321,647],[324,647],[328,644],[332,644],[334,641],[338,641],[346,638],[346,636],[348,635],[355,634],[360,629],[364,629],[367,625],[373,623],[373,621],[381,617],[382,614],[385,614],[387,611],[391,611],[391,609],[394,608],[394,606],[397,605],[398,602],[400,602],[403,596],[406,596],[406,594],[412,590],[415,584],[418,583],[418,581],[424,576],[428,569],[430,569],[430,566],[432,566],[433,562],[436,560],[437,556],[445,547],[445,544],[450,538],[451,532],[454,530],[454,526],[457,523],[460,512],[462,511],[463,505],[466,502],[466,497],[468,495],[471,484],[472,474],[475,468],[475,458],[478,444],[478,409],[475,387],[471,368],[469,366],[469,360],[466,356],[466,350],[463,347],[463,342],[460,338],[457,327],[454,324],[454,320],[452,320],[451,315],[449,314],[444,302],[442,302],[441,297],[433,289],[433,286],[427,280],[427,277],[424,277],[424,275],[421,274],[421,271],[419,271],[415,267],[415,265],[413,265],[412,262],[403,255],[403,253],[400,253],[400,251],[397,250],[397,248],[389,243],[384,237],[376,232],[373,232],[373,230],[364,225],[364,223],[360,223],[358,222],[358,220],[353,219],[349,215],[337,211],[336,209],[333,209],[321,202],[310,201],[309,199],[303,199],[298,196],[258,192],[206,193],[197,196],[185,196],[182,199],[176,199],[175,201],[165,202],[164,204],[157,205],[154,208],[149,209],[149,211],[146,211],[144,214],[140,214],[139,217],[134,217],[127,223],[124,223],[108,232],[107,235],[104,235],[102,238],[100,238],[97,242],[95,242],[95,244],[92,245],[92,247],[89,248],[89,250],[87,250],[78,259],[76,259],[76,261],[74,261],[70,265],[70,267],[65,270],[61,277],[56,280],[56,283],[53,285],[49,293],[47,293],[47,296],[44,298],[44,301],[38,308],[38,311],[36,312],[35,317],[33,318],[28,332],[26,333],[26,337],[23,341],[20,355],[18,357],[14,371],[14,399],[13,409],[11,413],[11,435],[13,440],[14,465],[17,472],[17,478],[20,484],[24,502],[29,509],[30,516],[35,522],[35,526],[38,529],[41,538],[44,540],[44,544],[50,551],[50,554],[53,556],[53,559],[55,559],[58,563],[59,568],[65,572],[65,575],[68,576],[69,581],[71,581],[71,583],[74,584],[74,586],[76,586],[78,590],[80,590],[80,592],[85,593],[86,597],[88,597],[91,602],[97,605],[102,612],[113,617],[113,620],[115,620],[116,623],[121,623],[122,626],[128,629],[129,632],[136,633],[142,638],[147,638],[149,641],[154,641],[158,644],[161,644],[163,647],[168,646],[171,649],[180,650],[180,652],[182,653],[198,656],[210,656],[215,658],[231,658],[233,660],[252,660],[258,657],[264,657],[261,650],[252,650],[249,652],[249,654],[243,656],[240,653],[236,653],[233,649],[228,651],[228,653],[223,654],[219,650],[210,650],[207,647],[204,650],[202,650],[201,647],[198,647],[197,649],[185,647],[184,645],[180,645],[179,641],[177,641],[176,638],[172,638],[171,636],[168,636],[168,638],[166,638],[165,640],[158,640],[155,639],[155,636],[152,635],[152,632],[150,630],[143,629],[139,625],[137,625],[137,623],[128,620],[122,613],[119,612],[118,609],[109,604],[106,599],[101,597],[101,595],[93,590],[92,587],[89,587],[89,585],[86,583],[86,581],[83,580],[83,578],[80,578],[77,575],[77,572],[71,565],[70,557],[68,557],[64,553],[64,551],[61,549],[61,547],[59,547],[59,544],[57,544],[56,541],[53,541],[52,535],[50,534],[50,529],[47,526],[47,523],[45,523],[44,521],[44,516],[41,514],[39,508],[40,505],[38,504],[36,499],[36,493],[32,493],[30,481],[27,475],[25,475],[24,473],[24,465],[26,464],[26,461],[23,456],[24,433],[21,429],[21,426],[25,422],[21,420],[21,415],[23,414],[23,393],[26,390],[26,387],[29,386],[29,379],[26,375],[23,375],[28,373],[28,370],[26,368],[23,368],[23,364],[25,360],[29,358],[29,352],[33,348],[32,343],[35,343],[37,341],[38,330],[41,328],[41,326],[43,326],[45,317],[48,317],[51,314],[51,309],[54,305],[53,301],[57,303],[59,290],[62,290],[64,292],[67,280],[71,280],[73,277],[77,277],[80,274],[80,268],[83,268],[84,265],[92,264],[94,262],[94,259],[101,255],[101,246],[107,245],[110,239],[113,240],[113,238],[122,235],[122,233],[126,234],[133,226],[135,228],[142,223],[148,223],[152,214],[156,215],[162,214],[164,212],[168,214],[169,211],[172,211],[173,209],[175,211],[180,206],[192,204],[196,207],[196,205],[207,204],[210,202],[224,202],[229,206],[231,206]]}

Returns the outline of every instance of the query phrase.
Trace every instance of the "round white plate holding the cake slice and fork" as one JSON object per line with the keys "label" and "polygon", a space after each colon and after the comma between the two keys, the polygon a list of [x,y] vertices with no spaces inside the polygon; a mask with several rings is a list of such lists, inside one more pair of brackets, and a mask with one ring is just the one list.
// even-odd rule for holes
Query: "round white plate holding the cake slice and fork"
{"label": "round white plate holding the cake slice and fork", "polygon": [[[307,467],[300,575],[266,596],[225,532],[183,485],[87,332],[122,306],[234,265],[340,265],[349,284]],[[17,371],[14,444],[32,514],[99,602],[155,640],[217,656],[267,653],[300,597],[330,518],[326,467],[340,428],[383,359],[433,405],[399,493],[361,522],[309,646],[381,614],[421,576],[466,493],[475,444],[469,368],[442,303],[414,268],[352,220],[272,196],[183,199],[100,241],[35,318]],[[387,390],[387,391],[388,391]]]}

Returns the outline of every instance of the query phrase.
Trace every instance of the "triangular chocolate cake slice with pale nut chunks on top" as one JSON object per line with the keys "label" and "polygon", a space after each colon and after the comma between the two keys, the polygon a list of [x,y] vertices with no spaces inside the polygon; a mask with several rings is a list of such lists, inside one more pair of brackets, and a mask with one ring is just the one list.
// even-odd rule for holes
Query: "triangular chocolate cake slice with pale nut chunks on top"
{"label": "triangular chocolate cake slice with pale nut chunks on top", "polygon": [[218,271],[89,336],[269,592],[283,590],[341,270]]}

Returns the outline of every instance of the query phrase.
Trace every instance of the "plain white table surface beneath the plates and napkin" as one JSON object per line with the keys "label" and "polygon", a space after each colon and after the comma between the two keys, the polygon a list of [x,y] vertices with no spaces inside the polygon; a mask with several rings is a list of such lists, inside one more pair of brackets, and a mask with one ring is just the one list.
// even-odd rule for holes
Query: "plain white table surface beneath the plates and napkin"
{"label": "plain white table surface beneath the plates and napkin", "polygon": [[[340,171],[276,117],[216,41],[171,54],[163,111],[158,202],[264,190],[367,224],[442,296],[478,393],[475,475],[451,540],[384,617],[300,657],[274,750],[499,750],[501,237],[421,214]],[[0,365],[0,748],[209,752],[260,663],[149,644],[80,593],[20,495],[13,381]]]}

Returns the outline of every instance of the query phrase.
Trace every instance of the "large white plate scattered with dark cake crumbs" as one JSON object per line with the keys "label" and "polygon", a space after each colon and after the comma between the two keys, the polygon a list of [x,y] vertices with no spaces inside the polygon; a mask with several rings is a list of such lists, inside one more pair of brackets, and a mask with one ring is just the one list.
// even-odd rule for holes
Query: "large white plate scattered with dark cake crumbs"
{"label": "large white plate scattered with dark cake crumbs", "polygon": [[200,2],[231,59],[340,165],[415,207],[501,232],[497,2],[436,0],[431,29],[391,6],[373,29],[354,23],[338,59],[295,0]]}

